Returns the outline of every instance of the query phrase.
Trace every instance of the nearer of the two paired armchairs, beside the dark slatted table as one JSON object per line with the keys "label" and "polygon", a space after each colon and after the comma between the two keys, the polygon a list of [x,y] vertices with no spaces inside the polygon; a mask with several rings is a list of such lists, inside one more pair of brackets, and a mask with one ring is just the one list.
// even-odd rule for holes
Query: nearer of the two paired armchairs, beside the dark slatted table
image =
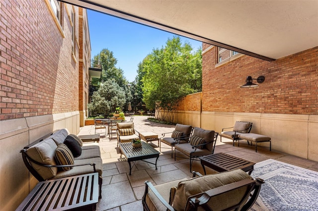
{"label": "nearer of the two paired armchairs, beside the dark slatted table", "polygon": [[211,155],[214,153],[215,144],[219,133],[213,130],[204,130],[199,127],[193,129],[189,143],[179,144],[179,139],[174,144],[174,160],[176,151],[183,153],[190,159],[190,172],[195,158]]}

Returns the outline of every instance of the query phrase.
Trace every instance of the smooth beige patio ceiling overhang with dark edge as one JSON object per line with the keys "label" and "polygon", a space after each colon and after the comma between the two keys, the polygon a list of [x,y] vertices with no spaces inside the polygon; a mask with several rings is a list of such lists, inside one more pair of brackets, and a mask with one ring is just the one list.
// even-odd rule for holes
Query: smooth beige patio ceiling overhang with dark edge
{"label": "smooth beige patio ceiling overhang with dark edge", "polygon": [[62,0],[265,60],[318,46],[318,0]]}

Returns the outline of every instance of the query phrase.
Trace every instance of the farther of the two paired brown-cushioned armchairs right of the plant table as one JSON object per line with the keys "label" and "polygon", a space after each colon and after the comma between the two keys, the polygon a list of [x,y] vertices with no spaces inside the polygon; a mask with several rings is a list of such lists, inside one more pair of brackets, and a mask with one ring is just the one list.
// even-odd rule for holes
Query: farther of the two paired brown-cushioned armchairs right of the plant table
{"label": "farther of the two paired brown-cushioned armchairs right of the plant table", "polygon": [[176,139],[179,139],[179,143],[188,143],[189,138],[192,133],[192,126],[191,125],[184,125],[184,124],[176,124],[174,131],[169,132],[171,133],[171,137],[165,137],[166,134],[169,133],[162,133],[162,137],[160,138],[160,146],[159,150],[161,152],[161,142],[171,147],[171,158],[173,157],[173,147]]}

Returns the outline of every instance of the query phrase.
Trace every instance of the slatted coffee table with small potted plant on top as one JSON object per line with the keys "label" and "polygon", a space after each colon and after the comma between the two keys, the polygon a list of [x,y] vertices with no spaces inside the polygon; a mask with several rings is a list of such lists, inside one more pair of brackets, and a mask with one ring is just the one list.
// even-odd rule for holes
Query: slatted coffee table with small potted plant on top
{"label": "slatted coffee table with small potted plant on top", "polygon": [[[158,161],[160,153],[157,150],[155,150],[152,146],[147,144],[146,142],[142,141],[142,147],[140,148],[134,148],[132,145],[132,142],[119,143],[119,149],[120,149],[121,155],[124,154],[124,156],[127,158],[127,161],[129,163],[129,175],[131,175],[131,169],[135,165],[134,163],[132,166],[131,162],[136,160],[143,160],[145,162],[154,164],[156,165],[156,170],[158,169],[157,161]],[[120,155],[120,158],[121,158],[121,155]],[[156,163],[144,160],[149,158],[157,158]]]}

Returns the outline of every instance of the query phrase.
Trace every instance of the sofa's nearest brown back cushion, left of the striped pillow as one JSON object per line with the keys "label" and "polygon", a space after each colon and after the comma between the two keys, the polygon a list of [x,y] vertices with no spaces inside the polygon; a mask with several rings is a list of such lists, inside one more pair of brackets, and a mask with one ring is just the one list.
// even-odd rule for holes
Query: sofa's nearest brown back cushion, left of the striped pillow
{"label": "sofa's nearest brown back cushion, left of the striped pillow", "polygon": [[[56,165],[55,161],[55,150],[57,145],[52,138],[47,138],[26,151],[26,155],[31,159],[46,164],[46,165]],[[44,179],[51,179],[56,176],[58,171],[57,167],[46,167],[37,165],[31,162],[32,167],[39,173],[39,175]]]}

